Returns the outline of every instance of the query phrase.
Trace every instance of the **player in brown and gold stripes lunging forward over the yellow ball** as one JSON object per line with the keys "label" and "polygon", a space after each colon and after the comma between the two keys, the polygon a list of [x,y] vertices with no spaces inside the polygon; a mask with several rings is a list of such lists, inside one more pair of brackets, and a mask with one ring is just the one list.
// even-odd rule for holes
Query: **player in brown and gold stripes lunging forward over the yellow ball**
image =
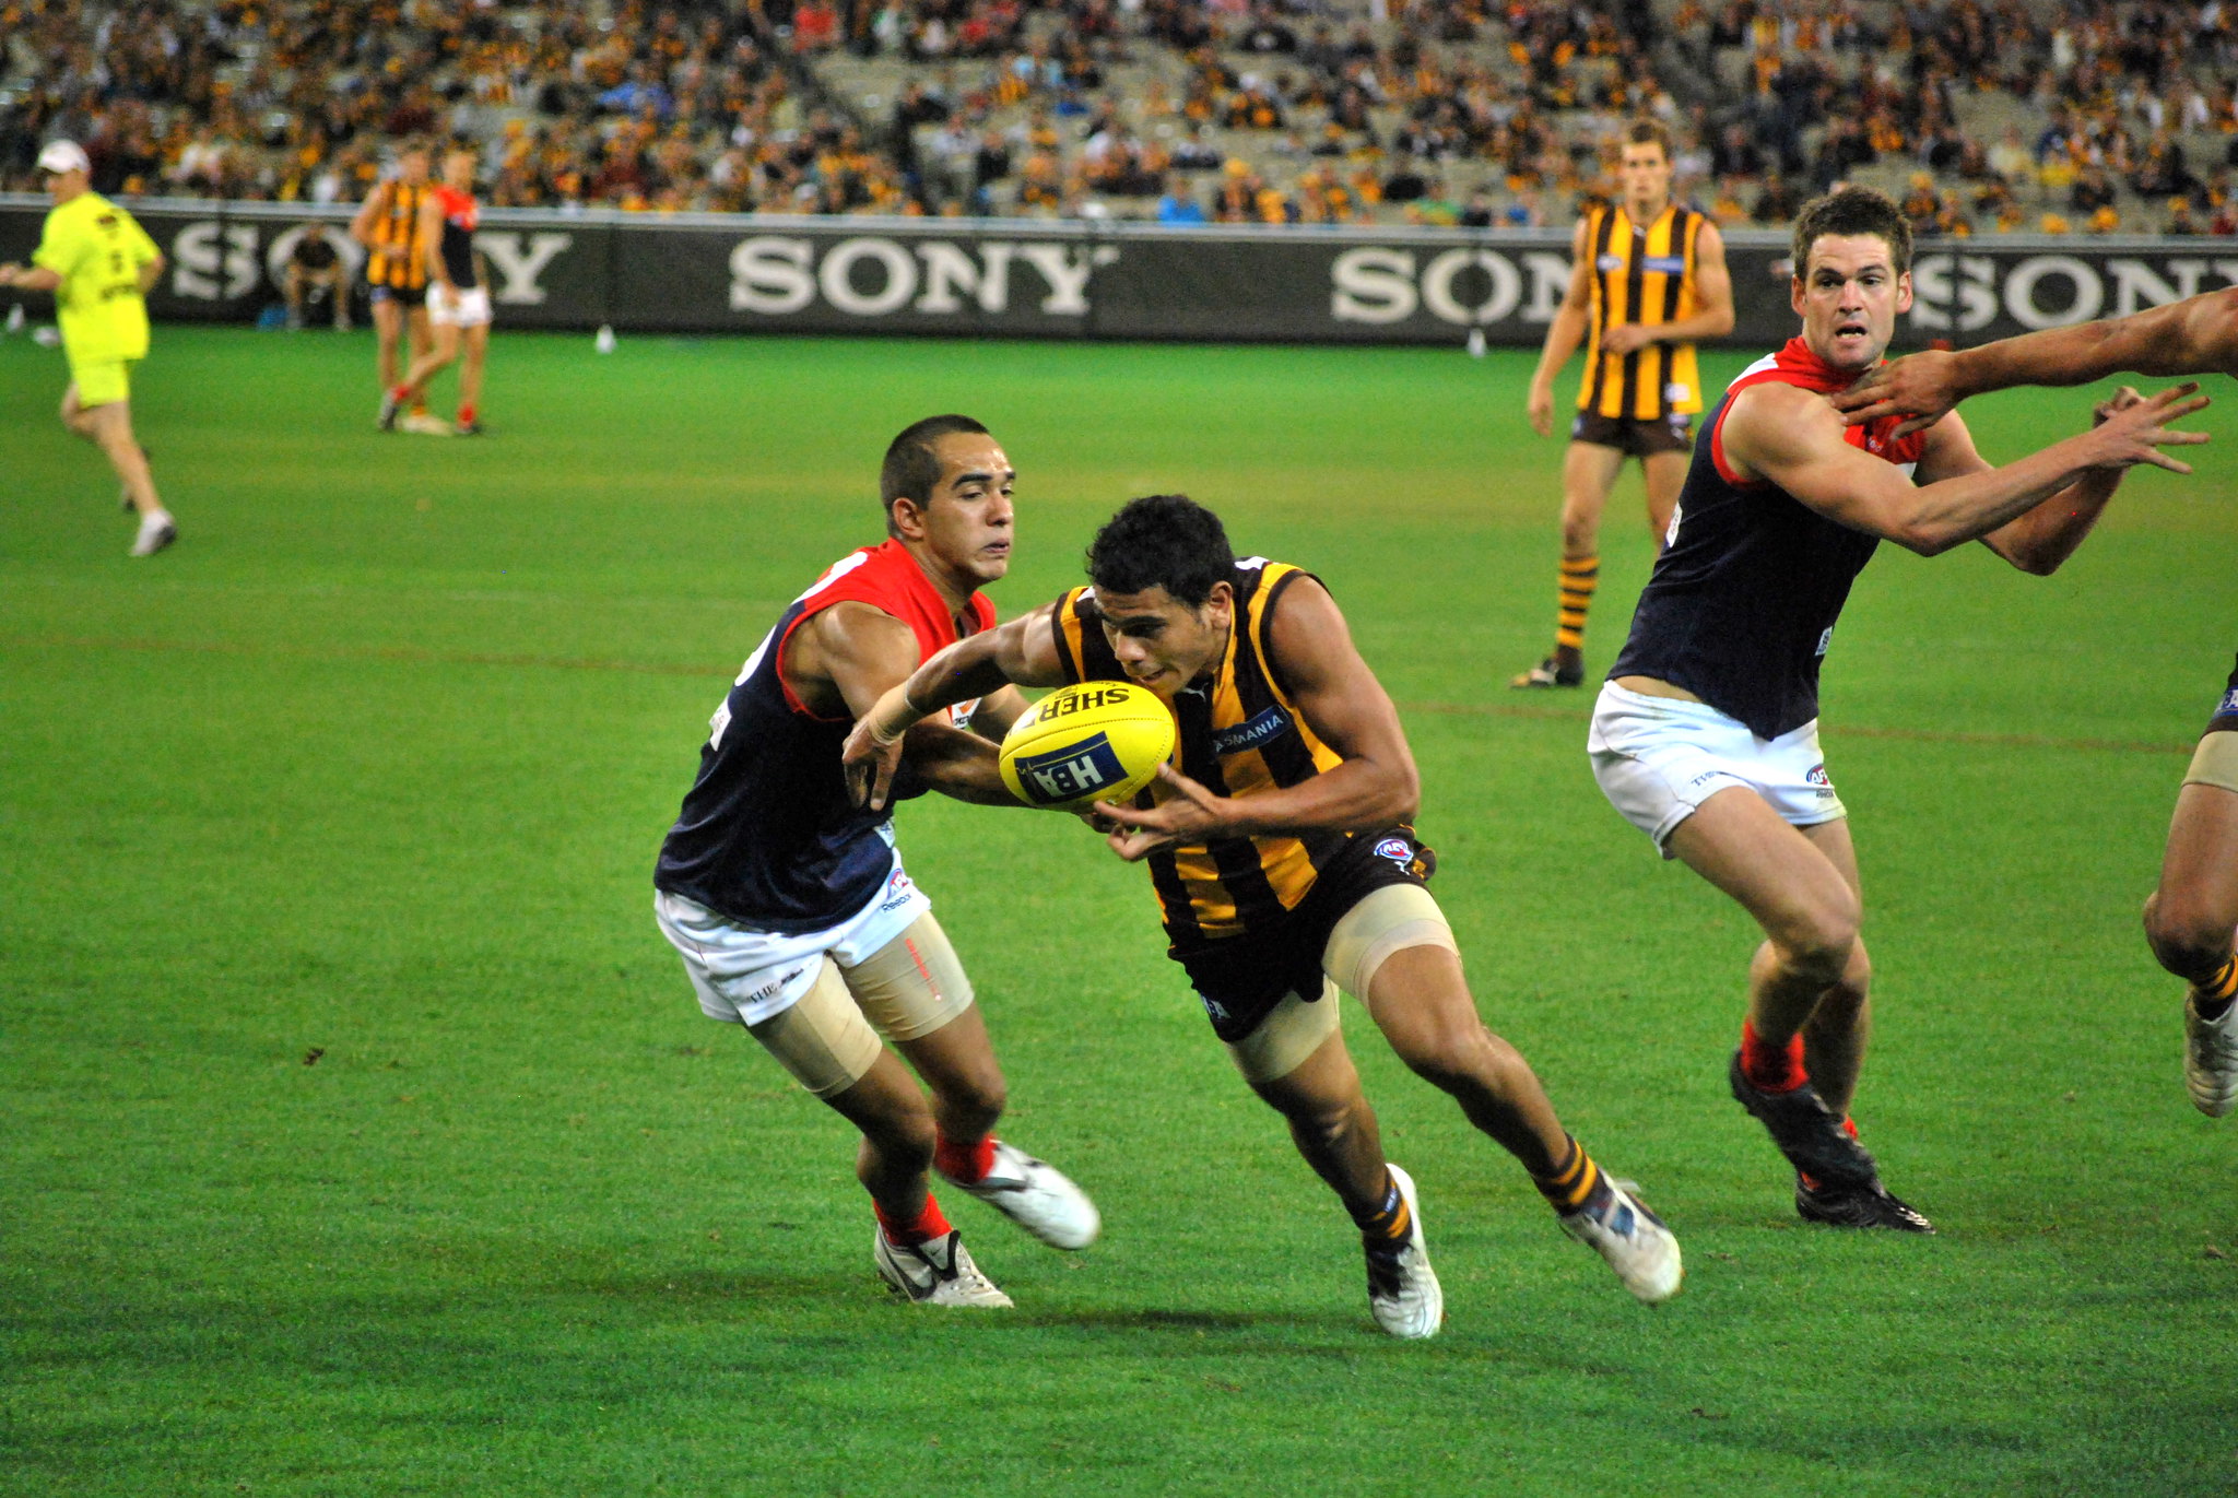
{"label": "player in brown and gold stripes lunging forward over the yellow ball", "polygon": [[1399,712],[1311,573],[1235,560],[1220,517],[1182,495],[1121,508],[1072,589],[974,634],[888,690],[846,743],[884,806],[906,734],[1016,685],[1135,681],[1179,721],[1135,806],[1099,802],[1110,846],[1150,867],[1170,956],[1244,1082],[1289,1122],[1367,1252],[1367,1301],[1394,1337],[1430,1337],[1444,1292],[1414,1182],[1383,1158],[1338,1030],[1336,990],[1399,1057],[1513,1153],[1576,1238],[1643,1301],[1678,1292],[1678,1240],[1562,1129],[1531,1066],[1484,1028],[1426,880],[1421,786]]}

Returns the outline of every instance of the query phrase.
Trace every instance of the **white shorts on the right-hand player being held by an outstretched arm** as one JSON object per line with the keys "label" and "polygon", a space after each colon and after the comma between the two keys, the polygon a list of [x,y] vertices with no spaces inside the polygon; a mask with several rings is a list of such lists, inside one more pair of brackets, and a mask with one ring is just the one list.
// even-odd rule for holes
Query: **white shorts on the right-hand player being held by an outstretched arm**
{"label": "white shorts on the right-hand player being held by an outstretched arm", "polygon": [[1593,703],[1585,750],[1600,793],[1656,840],[1663,858],[1672,855],[1665,846],[1672,828],[1725,786],[1755,790],[1790,826],[1849,815],[1826,779],[1817,719],[1759,739],[1710,703],[1627,692],[1611,681]]}

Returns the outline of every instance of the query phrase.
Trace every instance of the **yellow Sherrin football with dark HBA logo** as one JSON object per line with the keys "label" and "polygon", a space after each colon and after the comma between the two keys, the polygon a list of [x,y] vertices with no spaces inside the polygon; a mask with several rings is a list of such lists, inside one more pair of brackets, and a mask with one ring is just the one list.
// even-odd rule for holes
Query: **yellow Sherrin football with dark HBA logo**
{"label": "yellow Sherrin football with dark HBA logo", "polygon": [[1173,710],[1126,681],[1050,692],[1003,739],[1003,784],[1027,806],[1130,802],[1173,755]]}

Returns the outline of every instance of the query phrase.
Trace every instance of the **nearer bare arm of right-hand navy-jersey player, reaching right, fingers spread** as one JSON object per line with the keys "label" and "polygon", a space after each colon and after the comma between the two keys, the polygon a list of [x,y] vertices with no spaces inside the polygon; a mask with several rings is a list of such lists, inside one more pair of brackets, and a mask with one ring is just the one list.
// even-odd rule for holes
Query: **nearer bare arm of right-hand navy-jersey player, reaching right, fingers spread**
{"label": "nearer bare arm of right-hand navy-jersey player, reaching right, fingers spread", "polygon": [[[1755,385],[1741,392],[1725,414],[1723,443],[1725,459],[1741,477],[1768,479],[1853,531],[1936,555],[2019,519],[2093,468],[2157,464],[2191,472],[2160,448],[2207,441],[2204,432],[2166,428],[2207,403],[2195,392],[2198,385],[2162,390],[2016,464],[1983,464],[1922,486],[1913,486],[1896,464],[1849,446],[1833,405],[1795,385]],[[1963,461],[1945,455],[1945,466],[1960,468]]]}

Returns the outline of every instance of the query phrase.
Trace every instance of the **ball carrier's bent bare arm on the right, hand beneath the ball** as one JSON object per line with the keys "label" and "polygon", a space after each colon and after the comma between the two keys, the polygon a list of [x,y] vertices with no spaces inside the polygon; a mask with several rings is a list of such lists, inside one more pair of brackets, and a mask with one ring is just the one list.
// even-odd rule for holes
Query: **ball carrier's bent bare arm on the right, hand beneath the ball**
{"label": "ball carrier's bent bare arm on the right, hand beneath the ball", "polygon": [[1343,764],[1296,786],[1220,797],[1162,768],[1177,793],[1137,811],[1097,804],[1128,833],[1112,837],[1121,858],[1144,858],[1173,842],[1204,837],[1251,837],[1300,831],[1376,831],[1410,822],[1421,806],[1421,777],[1399,710],[1376,681],[1336,600],[1311,578],[1298,578],[1267,620],[1267,654],[1289,685],[1291,705]]}

